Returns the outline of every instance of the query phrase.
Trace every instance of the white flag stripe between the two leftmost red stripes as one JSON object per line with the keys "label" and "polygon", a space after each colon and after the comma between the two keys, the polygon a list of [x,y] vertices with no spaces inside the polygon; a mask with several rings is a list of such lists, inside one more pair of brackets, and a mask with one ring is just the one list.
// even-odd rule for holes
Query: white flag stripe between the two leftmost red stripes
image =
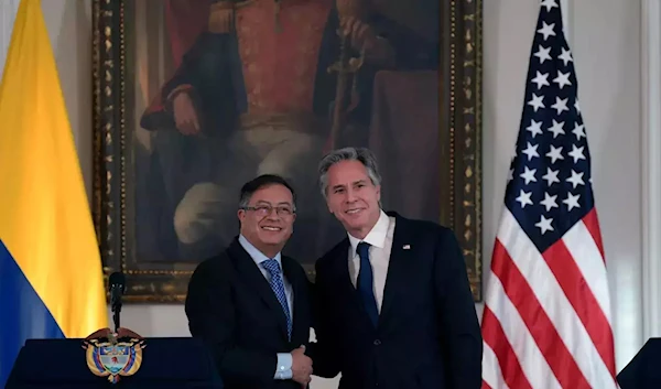
{"label": "white flag stripe between the two leftmost red stripes", "polygon": [[[494,313],[494,316],[500,325],[506,335],[506,341],[512,347],[516,356],[519,358],[519,364],[525,378],[532,386],[532,388],[562,388],[560,382],[555,379],[553,371],[549,367],[546,359],[540,352],[537,343],[532,338],[528,326],[521,320],[521,315],[512,302],[508,299],[502,288],[502,283],[496,277],[490,274],[491,280],[487,285],[487,295],[491,296],[489,300],[489,309]],[[489,345],[494,346],[494,345]],[[510,364],[516,363],[509,360]],[[499,368],[496,366],[489,367],[489,369]],[[500,387],[494,387],[494,389]]]}

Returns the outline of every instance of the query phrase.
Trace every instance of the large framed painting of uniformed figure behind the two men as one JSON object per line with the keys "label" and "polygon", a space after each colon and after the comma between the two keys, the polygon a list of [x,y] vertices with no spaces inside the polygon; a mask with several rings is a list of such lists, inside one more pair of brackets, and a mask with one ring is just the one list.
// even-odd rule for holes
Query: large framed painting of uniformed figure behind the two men
{"label": "large framed painting of uniformed figure behind the two men", "polygon": [[384,209],[451,227],[481,300],[480,0],[94,0],[94,217],[128,302],[183,302],[241,185],[297,192],[284,253],[344,237],[325,152],[377,155]]}

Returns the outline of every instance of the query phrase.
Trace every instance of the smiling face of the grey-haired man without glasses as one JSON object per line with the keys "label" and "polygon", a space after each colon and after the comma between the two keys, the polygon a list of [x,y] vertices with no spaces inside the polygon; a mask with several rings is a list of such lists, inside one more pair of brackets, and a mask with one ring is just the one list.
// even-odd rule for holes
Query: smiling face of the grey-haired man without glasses
{"label": "smiling face of the grey-haired man without glasses", "polygon": [[381,186],[375,185],[359,161],[340,161],[328,169],[326,204],[347,233],[362,239],[379,220]]}

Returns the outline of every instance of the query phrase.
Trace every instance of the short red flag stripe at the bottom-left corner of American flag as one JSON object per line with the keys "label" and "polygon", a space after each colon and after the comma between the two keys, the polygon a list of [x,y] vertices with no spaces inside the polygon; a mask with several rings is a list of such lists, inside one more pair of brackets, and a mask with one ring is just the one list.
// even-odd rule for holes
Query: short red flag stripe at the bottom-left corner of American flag
{"label": "short red flag stripe at the bottom-left corner of American flag", "polygon": [[[521,369],[517,354],[507,341],[500,322],[488,306],[485,306],[483,312],[483,339],[498,356],[498,365],[500,365],[500,371],[502,371],[502,377],[507,386],[517,389],[532,389],[528,378],[525,378],[525,374]],[[486,382],[483,383],[483,389],[485,385]]]}

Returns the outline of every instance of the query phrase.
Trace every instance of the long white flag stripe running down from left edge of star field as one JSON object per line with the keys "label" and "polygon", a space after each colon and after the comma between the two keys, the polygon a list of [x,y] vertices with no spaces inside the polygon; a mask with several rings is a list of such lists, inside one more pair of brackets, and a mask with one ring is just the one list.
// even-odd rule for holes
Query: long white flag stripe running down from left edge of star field
{"label": "long white flag stripe running down from left edge of star field", "polygon": [[[513,215],[507,208],[505,208],[502,214],[497,239],[506,248],[511,260],[525,278],[528,285],[534,292],[541,307],[551,320],[592,388],[616,388],[611,374],[604,364],[597,348],[590,342],[587,331],[557,283],[553,272],[549,269],[546,261],[530,241],[525,233],[521,230]],[[584,239],[592,240],[593,238],[588,234]],[[494,260],[500,259],[494,258]],[[500,283],[498,282],[498,284]],[[487,293],[492,299],[496,299],[500,296],[500,293],[505,292],[487,291]],[[488,305],[494,310],[494,302],[491,300],[489,300]],[[531,339],[528,342],[531,342]],[[516,342],[512,343],[512,346],[516,349]],[[524,359],[527,357],[519,355],[519,358]],[[533,385],[535,389],[551,387],[548,385]]]}

